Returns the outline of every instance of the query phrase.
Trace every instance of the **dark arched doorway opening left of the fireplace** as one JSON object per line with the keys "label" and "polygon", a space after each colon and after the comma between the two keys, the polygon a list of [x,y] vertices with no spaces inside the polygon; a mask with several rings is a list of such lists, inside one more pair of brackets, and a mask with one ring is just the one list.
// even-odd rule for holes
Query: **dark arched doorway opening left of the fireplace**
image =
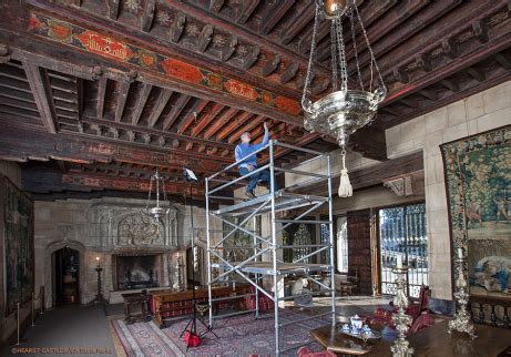
{"label": "dark arched doorway opening left of the fireplace", "polygon": [[80,252],[64,246],[52,253],[55,305],[80,303]]}

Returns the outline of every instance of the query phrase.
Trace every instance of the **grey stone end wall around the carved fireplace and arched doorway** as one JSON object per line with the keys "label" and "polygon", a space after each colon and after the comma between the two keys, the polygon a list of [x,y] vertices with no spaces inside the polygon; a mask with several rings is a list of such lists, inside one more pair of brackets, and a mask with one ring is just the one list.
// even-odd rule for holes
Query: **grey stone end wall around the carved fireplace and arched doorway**
{"label": "grey stone end wall around the carved fireplace and arched doorway", "polygon": [[[45,306],[53,305],[52,296],[52,253],[69,246],[80,252],[80,302],[86,304],[96,294],[96,257],[101,259],[103,293],[110,298],[115,290],[113,276],[113,254],[161,254],[161,286],[174,286],[176,277],[177,254],[185,255],[190,246],[191,215],[190,206],[173,204],[170,220],[162,226],[159,235],[147,242],[136,244],[130,236],[121,237],[117,224],[123,217],[136,217],[145,201],[127,198],[65,200],[55,202],[35,202],[35,287],[47,287]],[[140,222],[133,223],[133,228]],[[205,212],[194,206],[194,226],[198,228],[198,238],[205,242]],[[161,236],[160,236],[161,235]],[[185,263],[185,262],[184,262]],[[186,268],[186,266],[184,267]],[[183,272],[184,276],[184,272]],[[184,277],[183,277],[184,279]],[[201,283],[206,282],[205,268],[201,273]]]}

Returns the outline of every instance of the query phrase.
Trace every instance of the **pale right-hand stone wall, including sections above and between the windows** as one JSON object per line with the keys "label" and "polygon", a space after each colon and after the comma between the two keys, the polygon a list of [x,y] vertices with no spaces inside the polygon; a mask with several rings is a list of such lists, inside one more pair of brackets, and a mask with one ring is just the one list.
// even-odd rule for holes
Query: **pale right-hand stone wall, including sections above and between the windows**
{"label": "pale right-hand stone wall, including sections above and between the windows", "polygon": [[[422,151],[425,161],[425,195],[402,200],[388,188],[371,188],[357,192],[352,198],[336,198],[337,214],[346,211],[401,204],[426,197],[429,236],[430,285],[437,298],[451,299],[451,255],[443,178],[443,164],[439,145],[464,136],[474,135],[494,128],[511,124],[511,82],[508,81],[484,92],[454,102],[426,115],[386,130],[387,155],[396,159]],[[340,171],[340,150],[330,154],[333,173]],[[349,153],[350,171],[370,167],[376,162]],[[326,172],[326,162],[306,163],[297,170]],[[286,174],[286,184],[299,182],[302,177]],[[336,191],[336,187],[334,187]],[[375,197],[377,200],[375,200]],[[371,204],[372,201],[372,204]]]}

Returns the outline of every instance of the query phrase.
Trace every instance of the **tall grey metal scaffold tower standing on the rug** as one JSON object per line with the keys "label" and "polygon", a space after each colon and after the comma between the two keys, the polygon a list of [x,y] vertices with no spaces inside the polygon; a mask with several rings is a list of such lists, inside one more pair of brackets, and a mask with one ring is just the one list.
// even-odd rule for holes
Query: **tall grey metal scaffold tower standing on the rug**
{"label": "tall grey metal scaffold tower standing on the rug", "polygon": [[[326,162],[326,174],[306,172],[297,170],[295,165],[290,167],[280,167],[275,164],[275,152],[277,147],[284,147],[285,150],[300,151],[307,154],[314,155],[313,159],[307,162],[316,160],[323,160]],[[324,316],[331,316],[331,324],[336,322],[335,318],[335,285],[334,285],[334,236],[333,236],[333,212],[331,212],[331,171],[330,171],[330,156],[329,154],[316,152],[305,147],[293,146],[286,143],[277,141],[269,141],[268,144],[260,147],[254,154],[267,151],[268,162],[260,167],[257,167],[245,176],[237,177],[235,180],[225,180],[223,175],[228,171],[236,169],[245,159],[233,163],[224,170],[215,173],[214,175],[206,178],[206,230],[207,230],[207,262],[208,262],[208,297],[209,297],[209,328],[213,328],[214,319],[226,318],[228,316],[254,313],[255,317],[259,317],[259,293],[267,296],[274,303],[274,316],[275,316],[275,355],[279,356],[285,350],[280,349],[280,329],[289,324],[297,324],[309,319],[317,319]],[[303,164],[303,163],[300,163]],[[298,167],[299,169],[299,167]],[[249,201],[242,201],[236,203],[236,198],[233,205],[218,205],[218,208],[212,210],[212,200],[215,202],[233,202],[233,197],[222,196],[221,192],[226,188],[233,191],[239,185],[241,181],[246,180],[249,175],[257,174],[264,170],[269,170],[270,183],[269,193],[266,195],[257,196]],[[292,173],[297,177],[305,177],[296,184],[275,191],[276,176],[285,173]],[[328,185],[328,196],[317,196],[309,194],[295,193],[297,190],[303,188],[311,183],[325,183]],[[239,201],[239,200],[237,200]],[[308,215],[317,213],[320,207],[328,206],[328,221],[316,221],[306,220]],[[292,211],[299,208],[300,214],[295,218],[284,218],[282,212]],[[251,230],[247,224],[255,222],[257,216],[267,215],[270,230],[269,234],[259,234],[257,230]],[[239,221],[235,221],[237,218]],[[218,220],[224,228],[215,230],[212,228],[212,222]],[[314,225],[328,225],[328,239],[320,241],[319,244],[284,244],[279,242],[278,236],[289,227],[292,224],[314,224]],[[225,230],[228,227],[228,230]],[[229,237],[233,237],[236,233],[243,233],[252,237],[252,245],[243,246],[248,249],[252,255],[245,256],[242,262],[236,262],[236,256],[224,254],[227,248],[226,243]],[[239,246],[237,246],[239,248]],[[294,257],[293,262],[284,262],[280,252],[283,249],[302,249],[306,252],[299,257]],[[326,254],[325,254],[326,253]],[[314,261],[315,263],[308,263]],[[323,261],[323,262],[321,262]],[[216,269],[216,276],[213,276],[213,269]],[[235,298],[243,298],[246,296],[254,296],[255,308],[248,312],[235,312],[223,315],[213,315],[213,304],[218,300],[225,300],[229,297],[213,298],[212,288],[214,284],[225,282],[233,275],[242,277],[243,280],[249,283],[255,289],[253,294],[238,295]],[[314,313],[302,315],[298,319],[286,320],[280,316],[282,309],[279,303],[285,300],[293,300],[300,298],[303,295],[289,295],[282,296],[282,289],[279,289],[279,279],[286,276],[300,276],[307,278],[311,285],[319,287],[319,292],[310,292],[309,295],[329,294],[331,298],[331,308],[327,313]],[[321,280],[318,275],[329,275],[329,282]],[[270,280],[269,289],[263,288],[263,283]],[[280,292],[280,294],[279,294]],[[313,299],[314,302],[314,299]],[[304,344],[305,345],[305,344]],[[293,348],[297,348],[294,346]]]}

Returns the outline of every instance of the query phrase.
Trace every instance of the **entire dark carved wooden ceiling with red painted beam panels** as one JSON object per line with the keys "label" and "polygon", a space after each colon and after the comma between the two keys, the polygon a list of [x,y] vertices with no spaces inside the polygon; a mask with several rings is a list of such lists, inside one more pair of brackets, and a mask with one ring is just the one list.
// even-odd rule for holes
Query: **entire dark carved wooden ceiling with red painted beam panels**
{"label": "entire dark carved wooden ceiling with red painted beam panels", "polygon": [[[351,142],[367,157],[387,159],[385,129],[511,78],[510,1],[357,3],[389,88]],[[265,121],[280,141],[336,147],[303,129],[313,0],[6,0],[0,10],[0,157],[22,162],[28,191],[143,192],[160,167],[180,194],[183,165],[221,170],[239,134],[259,140]],[[317,96],[331,90],[329,28],[318,35]]]}

